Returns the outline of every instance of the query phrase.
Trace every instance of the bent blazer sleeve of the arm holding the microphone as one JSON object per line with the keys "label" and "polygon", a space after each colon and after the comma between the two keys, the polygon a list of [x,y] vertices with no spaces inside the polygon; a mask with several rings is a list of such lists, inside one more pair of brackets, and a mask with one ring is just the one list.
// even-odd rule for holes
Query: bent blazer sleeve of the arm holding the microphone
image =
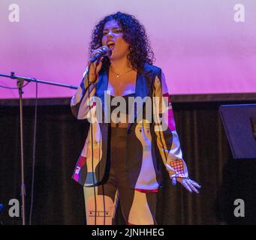
{"label": "bent blazer sleeve of the arm holding the microphone", "polygon": [[86,71],[83,74],[83,80],[80,83],[77,92],[71,98],[71,111],[77,119],[89,118],[89,107],[95,103],[94,96],[98,78],[95,83],[90,83],[88,80],[88,74],[88,68],[86,68]]}

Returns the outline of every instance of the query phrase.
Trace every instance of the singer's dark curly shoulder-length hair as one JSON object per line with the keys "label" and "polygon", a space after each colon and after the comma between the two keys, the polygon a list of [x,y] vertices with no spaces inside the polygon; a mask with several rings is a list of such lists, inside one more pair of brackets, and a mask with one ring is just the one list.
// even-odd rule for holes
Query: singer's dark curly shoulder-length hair
{"label": "singer's dark curly shoulder-length hair", "polygon": [[[143,69],[145,63],[152,65],[155,61],[155,56],[149,44],[146,30],[134,16],[128,13],[117,12],[104,17],[104,19],[95,26],[92,32],[89,52],[101,46],[104,25],[110,20],[116,20],[119,26],[122,27],[123,39],[130,45],[128,61],[131,64],[131,68],[140,71]],[[110,59],[104,58],[102,67],[108,68],[109,65]]]}

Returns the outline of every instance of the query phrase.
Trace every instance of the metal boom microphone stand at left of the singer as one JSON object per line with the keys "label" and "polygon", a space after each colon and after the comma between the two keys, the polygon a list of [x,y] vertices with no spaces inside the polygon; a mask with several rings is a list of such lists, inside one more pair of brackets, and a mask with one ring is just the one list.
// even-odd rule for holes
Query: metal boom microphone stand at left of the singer
{"label": "metal boom microphone stand at left of the singer", "polygon": [[17,80],[17,86],[19,89],[19,95],[20,95],[21,198],[22,198],[21,210],[22,210],[23,225],[26,225],[26,218],[25,218],[26,185],[25,185],[25,181],[24,181],[24,156],[23,156],[23,83],[24,83],[24,81],[35,82],[35,83],[45,83],[48,85],[61,86],[61,87],[70,88],[70,89],[78,89],[78,87],[67,85],[67,84],[62,84],[62,83],[53,83],[53,82],[48,82],[48,81],[44,81],[44,80],[36,80],[35,78],[30,78],[30,77],[15,76],[14,72],[11,72],[11,75],[0,74],[0,77],[8,77],[13,80]]}

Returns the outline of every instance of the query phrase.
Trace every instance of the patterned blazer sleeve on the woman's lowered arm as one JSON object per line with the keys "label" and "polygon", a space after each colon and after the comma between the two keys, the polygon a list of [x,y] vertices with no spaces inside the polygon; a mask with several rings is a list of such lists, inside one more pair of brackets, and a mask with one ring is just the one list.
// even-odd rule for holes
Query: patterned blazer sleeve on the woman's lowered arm
{"label": "patterned blazer sleeve on the woman's lowered arm", "polygon": [[164,74],[161,72],[159,75],[155,77],[153,89],[154,130],[158,150],[171,178],[188,178],[167,84]]}

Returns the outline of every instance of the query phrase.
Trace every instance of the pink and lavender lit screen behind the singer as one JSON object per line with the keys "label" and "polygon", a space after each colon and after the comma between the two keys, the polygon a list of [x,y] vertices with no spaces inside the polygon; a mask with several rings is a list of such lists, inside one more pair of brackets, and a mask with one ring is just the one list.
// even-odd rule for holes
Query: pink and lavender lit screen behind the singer
{"label": "pink and lavender lit screen behind the singer", "polygon": [[[92,28],[117,10],[146,27],[171,95],[256,92],[254,0],[1,0],[0,73],[78,86]],[[0,85],[16,86],[3,77]],[[74,91],[40,85],[39,97]],[[35,98],[35,83],[24,92]],[[0,98],[17,90],[0,88]]]}

